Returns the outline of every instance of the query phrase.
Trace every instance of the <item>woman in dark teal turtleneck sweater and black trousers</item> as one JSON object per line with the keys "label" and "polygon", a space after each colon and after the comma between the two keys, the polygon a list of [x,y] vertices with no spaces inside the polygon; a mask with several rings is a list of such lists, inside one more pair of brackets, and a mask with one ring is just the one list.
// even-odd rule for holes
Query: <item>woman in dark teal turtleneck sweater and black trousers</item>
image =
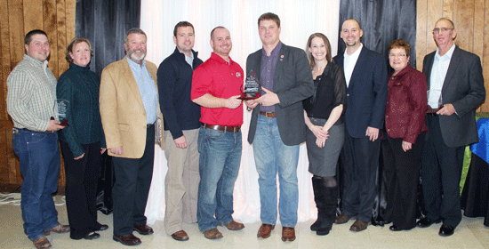
{"label": "woman in dark teal turtleneck sweater and black trousers", "polygon": [[105,148],[100,121],[100,78],[88,69],[92,56],[90,42],[75,37],[68,44],[70,63],[56,86],[58,99],[68,100],[68,127],[60,131],[65,163],[66,203],[72,239],[95,239],[95,231],[108,229],[97,221],[96,191],[100,175],[100,154]]}

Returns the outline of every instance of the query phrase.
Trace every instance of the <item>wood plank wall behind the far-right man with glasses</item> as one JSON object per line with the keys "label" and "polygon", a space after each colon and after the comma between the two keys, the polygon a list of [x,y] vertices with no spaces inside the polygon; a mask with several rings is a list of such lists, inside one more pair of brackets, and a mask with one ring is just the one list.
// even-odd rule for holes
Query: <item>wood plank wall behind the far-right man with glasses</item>
{"label": "wood plank wall behind the far-right man with glasses", "polygon": [[[438,19],[453,20],[455,44],[477,54],[489,91],[489,0],[417,0],[416,67],[422,70],[426,54],[437,50],[432,31]],[[478,111],[489,111],[489,94]]]}

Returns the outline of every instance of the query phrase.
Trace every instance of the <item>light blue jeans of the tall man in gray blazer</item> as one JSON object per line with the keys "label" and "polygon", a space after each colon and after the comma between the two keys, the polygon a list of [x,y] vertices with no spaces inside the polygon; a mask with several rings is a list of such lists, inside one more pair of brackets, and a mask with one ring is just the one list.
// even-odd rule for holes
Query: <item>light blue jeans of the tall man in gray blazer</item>
{"label": "light blue jeans of the tall man in gray blazer", "polygon": [[280,182],[278,211],[284,227],[297,224],[297,163],[299,145],[287,146],[278,133],[277,118],[258,116],[253,153],[260,186],[260,218],[263,223],[277,222],[277,173]]}

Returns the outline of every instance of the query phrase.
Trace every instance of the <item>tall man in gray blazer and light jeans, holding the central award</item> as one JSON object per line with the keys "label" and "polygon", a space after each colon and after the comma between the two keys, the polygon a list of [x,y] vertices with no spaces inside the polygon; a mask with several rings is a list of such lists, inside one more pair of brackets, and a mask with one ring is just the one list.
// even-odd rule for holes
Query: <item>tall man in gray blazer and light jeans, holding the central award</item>
{"label": "tall man in gray blazer and light jeans, holding the central award", "polygon": [[280,42],[280,19],[276,14],[262,14],[258,30],[263,47],[246,60],[247,74],[253,72],[262,89],[260,98],[246,101],[248,108],[253,108],[248,142],[254,141],[254,160],[260,176],[263,224],[258,237],[269,237],[275,228],[278,173],[282,240],[293,241],[299,201],[299,144],[306,141],[302,100],[313,94],[312,74],[306,52]]}

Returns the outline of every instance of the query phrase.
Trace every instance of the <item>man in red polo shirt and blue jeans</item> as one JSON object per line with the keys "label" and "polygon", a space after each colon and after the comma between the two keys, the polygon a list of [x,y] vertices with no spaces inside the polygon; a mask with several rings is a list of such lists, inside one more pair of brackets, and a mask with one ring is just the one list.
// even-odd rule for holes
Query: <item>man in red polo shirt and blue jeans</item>
{"label": "man in red polo shirt and blue jeans", "polygon": [[218,224],[230,230],[244,228],[231,216],[241,162],[243,105],[238,97],[244,73],[229,57],[233,44],[227,28],[212,29],[211,46],[211,58],[194,71],[191,99],[201,106],[203,124],[198,134],[198,228],[204,237],[215,239],[222,237]]}

